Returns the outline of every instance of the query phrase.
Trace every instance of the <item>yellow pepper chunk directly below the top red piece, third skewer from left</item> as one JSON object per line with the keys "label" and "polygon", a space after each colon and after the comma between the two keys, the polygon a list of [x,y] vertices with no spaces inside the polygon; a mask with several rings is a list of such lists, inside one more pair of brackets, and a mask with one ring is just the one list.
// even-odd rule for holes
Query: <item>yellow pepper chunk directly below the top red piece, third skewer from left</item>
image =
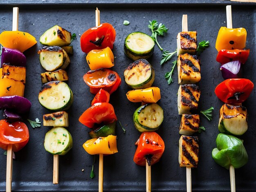
{"label": "yellow pepper chunk directly below the top red piece, third skewer from left", "polygon": [[114,55],[109,47],[90,51],[86,60],[91,70],[114,66]]}

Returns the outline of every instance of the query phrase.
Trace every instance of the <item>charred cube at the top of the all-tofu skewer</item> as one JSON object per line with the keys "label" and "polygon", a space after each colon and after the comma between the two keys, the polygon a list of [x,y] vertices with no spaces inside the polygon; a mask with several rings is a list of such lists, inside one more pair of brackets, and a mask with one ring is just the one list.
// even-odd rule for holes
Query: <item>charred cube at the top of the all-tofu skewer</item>
{"label": "charred cube at the top of the all-tofu skewer", "polygon": [[177,56],[184,53],[195,54],[197,48],[196,31],[182,31],[177,35]]}

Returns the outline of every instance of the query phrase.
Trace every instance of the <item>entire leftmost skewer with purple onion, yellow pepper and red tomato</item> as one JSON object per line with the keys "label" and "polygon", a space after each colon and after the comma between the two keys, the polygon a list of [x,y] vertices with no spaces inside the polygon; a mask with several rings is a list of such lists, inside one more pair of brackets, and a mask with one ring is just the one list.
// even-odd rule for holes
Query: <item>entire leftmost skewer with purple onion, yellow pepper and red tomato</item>
{"label": "entire leftmost skewer with purple onion, yellow pepper and red tomato", "polygon": [[29,141],[29,130],[22,118],[26,117],[31,103],[23,97],[26,82],[26,57],[23,51],[36,44],[29,33],[18,31],[18,7],[13,7],[12,31],[0,34],[4,46],[0,68],[0,147],[7,150],[6,191],[11,192],[13,152],[21,150]]}

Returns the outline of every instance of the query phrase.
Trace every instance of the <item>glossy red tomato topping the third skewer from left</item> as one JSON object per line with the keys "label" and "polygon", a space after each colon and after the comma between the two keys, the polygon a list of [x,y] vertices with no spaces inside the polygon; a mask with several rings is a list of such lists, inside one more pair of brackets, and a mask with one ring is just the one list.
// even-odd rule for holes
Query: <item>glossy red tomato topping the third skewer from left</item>
{"label": "glossy red tomato topping the third skewer from left", "polygon": [[81,36],[81,49],[85,53],[89,53],[92,49],[104,49],[110,47],[116,38],[116,31],[109,23],[102,23],[98,27],[92,27],[85,31]]}

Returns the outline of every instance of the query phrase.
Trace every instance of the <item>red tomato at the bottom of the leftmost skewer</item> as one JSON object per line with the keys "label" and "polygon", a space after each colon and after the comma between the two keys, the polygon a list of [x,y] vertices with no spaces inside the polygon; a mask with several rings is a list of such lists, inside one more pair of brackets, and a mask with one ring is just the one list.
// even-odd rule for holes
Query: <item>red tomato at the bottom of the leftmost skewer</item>
{"label": "red tomato at the bottom of the leftmost skewer", "polygon": [[0,147],[7,150],[12,144],[13,152],[21,150],[29,141],[29,129],[25,123],[16,121],[8,123],[7,120],[0,121]]}

